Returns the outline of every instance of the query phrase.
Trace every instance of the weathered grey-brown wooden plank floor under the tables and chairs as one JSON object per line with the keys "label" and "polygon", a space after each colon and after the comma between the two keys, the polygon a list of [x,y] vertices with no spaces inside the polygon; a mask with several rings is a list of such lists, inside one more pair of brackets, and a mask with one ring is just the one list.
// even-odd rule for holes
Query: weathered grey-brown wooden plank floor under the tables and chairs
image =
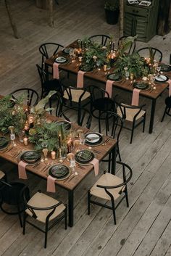
{"label": "weathered grey-brown wooden plank floor under the tables and chairs", "polygon": [[[119,38],[118,25],[107,25],[104,19],[104,0],[59,1],[54,10],[54,28],[47,25],[46,10],[36,8],[33,0],[14,0],[12,11],[20,38],[12,36],[9,20],[0,2],[0,94],[9,94],[15,88],[30,87],[41,90],[36,63],[41,62],[38,46],[43,42],[56,41],[67,46],[77,38],[93,34],[111,34]],[[138,47],[151,45],[162,50],[164,62],[169,61],[171,33],[155,36],[148,44],[138,42]],[[75,78],[70,78],[74,83]],[[90,82],[88,82],[90,83]],[[115,90],[114,94],[121,94]],[[133,144],[129,144],[130,132],[122,131],[120,153],[123,162],[133,168],[129,184],[130,207],[125,203],[117,209],[117,225],[112,212],[101,207],[92,207],[87,215],[86,194],[95,182],[93,173],[75,191],[75,226],[64,230],[64,223],[49,232],[47,249],[43,249],[43,234],[28,226],[22,235],[17,216],[0,212],[0,255],[56,255],[56,256],[170,256],[171,255],[171,119],[164,111],[165,91],[157,100],[154,133],[148,133],[150,101],[146,103],[148,118],[146,131],[137,128]],[[125,93],[130,100],[130,95]],[[92,129],[97,123],[93,120]],[[102,170],[107,168],[103,163]],[[12,165],[1,160],[1,169],[8,171],[9,180],[17,179]],[[30,191],[46,191],[46,181],[29,175]],[[67,200],[67,193],[57,189],[53,195]]]}

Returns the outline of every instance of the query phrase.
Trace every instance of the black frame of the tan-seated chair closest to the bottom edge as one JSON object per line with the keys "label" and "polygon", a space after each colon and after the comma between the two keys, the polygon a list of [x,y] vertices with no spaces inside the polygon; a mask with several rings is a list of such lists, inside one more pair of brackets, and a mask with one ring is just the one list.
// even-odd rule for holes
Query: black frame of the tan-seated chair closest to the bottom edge
{"label": "black frame of the tan-seated chair closest to the bottom edge", "polygon": [[[25,191],[23,191],[25,192]],[[41,191],[39,191],[41,193]],[[64,214],[57,218],[56,221],[54,221],[53,224],[51,224],[51,226],[49,226],[49,218],[51,217],[51,215],[53,215],[54,211],[56,210],[56,208],[62,205],[62,202],[58,202],[56,205],[51,205],[50,207],[33,207],[31,205],[28,205],[28,203],[25,201],[25,207],[28,208],[28,210],[30,210],[30,212],[32,213],[32,218],[36,219],[37,215],[36,212],[34,210],[51,210],[51,212],[49,212],[49,215],[47,215],[46,217],[46,223],[45,223],[45,230],[43,230],[42,228],[36,226],[35,224],[31,223],[29,220],[27,220],[27,217],[29,216],[27,214],[27,212],[24,212],[24,218],[23,218],[23,231],[22,234],[25,235],[25,226],[26,223],[30,224],[30,226],[33,226],[34,228],[37,228],[39,231],[43,232],[43,234],[45,234],[45,239],[44,239],[44,248],[46,248],[47,246],[47,236],[48,236],[48,231],[53,228],[57,223],[59,223],[60,220],[62,220],[64,218],[64,227],[65,229],[67,229],[67,205],[65,204],[65,209],[64,209]]]}

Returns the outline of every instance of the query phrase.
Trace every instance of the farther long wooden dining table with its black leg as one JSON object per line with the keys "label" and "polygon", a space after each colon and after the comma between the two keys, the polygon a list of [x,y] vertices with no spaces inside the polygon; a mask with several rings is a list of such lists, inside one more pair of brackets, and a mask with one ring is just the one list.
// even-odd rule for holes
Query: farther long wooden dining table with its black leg
{"label": "farther long wooden dining table with its black leg", "polygon": [[[77,48],[77,41],[74,41],[72,44],[70,44],[67,47]],[[75,75],[77,75],[78,70],[79,70],[79,64],[80,64],[78,62],[78,59],[76,59],[75,62],[72,62],[70,59],[70,56],[68,54],[64,54],[62,51],[59,51],[59,53],[57,53],[56,56],[46,59],[46,61],[45,61],[46,71],[48,71],[49,66],[50,67],[53,66],[54,60],[59,56],[64,56],[69,60],[66,64],[59,65],[59,69],[70,72],[70,73],[74,73]],[[109,70],[109,72],[113,73],[114,68],[111,68]],[[166,73],[165,75],[167,75],[169,78],[171,78],[171,72]],[[97,69],[94,69],[92,72],[85,73],[84,76],[85,76],[85,78],[90,78],[90,79],[99,81],[101,83],[107,82],[107,76],[106,76],[104,70],[102,70],[102,69],[100,71]],[[48,77],[47,77],[47,79],[48,79]],[[140,92],[141,96],[151,99],[151,116],[150,116],[150,122],[149,122],[149,133],[152,133],[152,131],[153,131],[157,99],[163,93],[163,91],[168,87],[168,83],[156,83],[155,86],[156,86],[155,90]],[[122,79],[119,82],[114,81],[113,87],[120,88],[123,91],[128,91],[130,93],[133,93],[133,86],[132,85],[130,86],[130,80]]]}

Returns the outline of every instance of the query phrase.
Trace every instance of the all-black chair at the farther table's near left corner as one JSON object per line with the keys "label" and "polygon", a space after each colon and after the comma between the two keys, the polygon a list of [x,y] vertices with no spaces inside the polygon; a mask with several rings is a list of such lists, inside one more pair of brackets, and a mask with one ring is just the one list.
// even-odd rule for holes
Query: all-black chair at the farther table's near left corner
{"label": "all-black chair at the farther table's near left corner", "polygon": [[38,75],[41,79],[41,99],[49,94],[49,91],[59,91],[60,94],[63,94],[62,83],[59,79],[46,80],[46,72],[36,64],[38,69]]}

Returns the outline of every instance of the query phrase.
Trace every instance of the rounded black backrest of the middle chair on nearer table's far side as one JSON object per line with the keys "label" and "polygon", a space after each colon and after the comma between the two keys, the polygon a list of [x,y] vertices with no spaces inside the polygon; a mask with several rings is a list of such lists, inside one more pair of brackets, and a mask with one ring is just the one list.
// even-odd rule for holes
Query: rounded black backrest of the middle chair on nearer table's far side
{"label": "rounded black backrest of the middle chair on nearer table's far side", "polygon": [[91,112],[89,110],[86,110],[84,107],[69,107],[66,110],[62,111],[59,116],[64,117],[69,122],[78,123],[78,125],[80,126],[86,128],[91,127]]}

